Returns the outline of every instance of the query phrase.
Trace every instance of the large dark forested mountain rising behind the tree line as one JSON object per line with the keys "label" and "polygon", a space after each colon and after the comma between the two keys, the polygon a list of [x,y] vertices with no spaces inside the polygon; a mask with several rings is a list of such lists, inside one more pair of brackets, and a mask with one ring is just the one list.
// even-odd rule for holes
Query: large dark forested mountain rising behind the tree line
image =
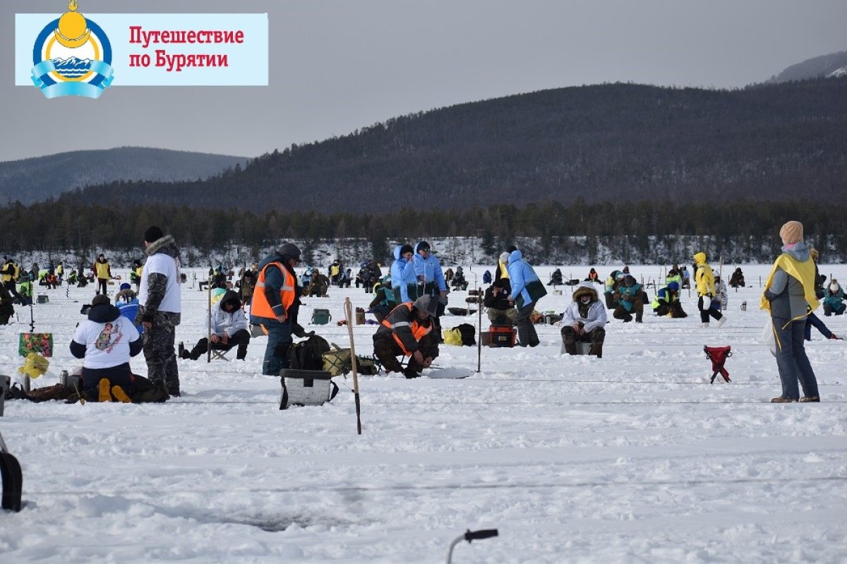
{"label": "large dark forested mountain rising behind the tree line", "polygon": [[[578,199],[840,202],[847,178],[845,100],[847,77],[734,91],[560,88],[389,119],[265,154],[209,180],[113,183],[64,197],[78,204],[154,201],[261,213]],[[633,209],[620,221],[651,219]]]}

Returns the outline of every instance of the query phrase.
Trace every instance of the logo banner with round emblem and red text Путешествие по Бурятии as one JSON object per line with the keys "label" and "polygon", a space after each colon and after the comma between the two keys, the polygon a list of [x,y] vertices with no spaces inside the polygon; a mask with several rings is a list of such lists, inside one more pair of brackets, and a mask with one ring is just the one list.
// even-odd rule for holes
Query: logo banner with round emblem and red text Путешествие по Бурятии
{"label": "logo banner with round emblem and red text \u041f\u0443\u0442\u0435\u0448\u0435\u0441\u0442\u0432\u0438\u0435 \u043f\u043e \u0411\u0443\u0440\u044f\u0442\u0438\u0438", "polygon": [[268,14],[15,14],[16,86],[268,86]]}

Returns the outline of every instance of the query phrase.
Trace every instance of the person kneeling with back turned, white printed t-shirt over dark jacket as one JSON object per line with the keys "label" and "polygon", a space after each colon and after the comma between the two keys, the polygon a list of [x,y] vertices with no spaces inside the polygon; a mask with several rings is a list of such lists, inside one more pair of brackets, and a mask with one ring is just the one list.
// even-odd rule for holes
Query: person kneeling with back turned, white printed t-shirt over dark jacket
{"label": "person kneeling with back turned, white printed t-shirt over dark jacket", "polygon": [[122,316],[107,296],[91,300],[88,319],[76,328],[70,353],[82,358],[82,387],[88,397],[99,401],[129,402],[132,395],[130,357],[141,352],[143,343],[132,322]]}

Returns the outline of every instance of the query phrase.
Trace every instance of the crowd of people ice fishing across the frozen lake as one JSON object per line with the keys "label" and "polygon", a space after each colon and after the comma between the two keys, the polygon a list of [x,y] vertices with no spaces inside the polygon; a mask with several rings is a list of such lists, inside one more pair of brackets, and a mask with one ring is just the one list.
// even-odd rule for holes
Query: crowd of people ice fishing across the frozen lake
{"label": "crowd of people ice fishing across the frozen lake", "polygon": [[[827,284],[826,277],[818,273],[817,252],[803,242],[801,224],[785,224],[780,235],[783,254],[774,263],[761,298],[761,307],[772,316],[783,381],[782,394],[773,401],[818,401],[803,341],[811,339],[811,327],[828,339],[839,339],[817,318],[815,310],[820,300],[824,316],[843,315],[847,309],[844,290],[838,280]],[[363,261],[355,278],[352,269],[345,268],[339,259],[329,263],[326,274],[318,268],[307,268],[298,276],[296,268],[302,263],[302,253],[296,245],[285,243],[261,263],[249,268],[245,265],[237,277],[232,268],[210,267],[208,279],[200,285],[201,290],[205,286],[210,292],[210,298],[214,296],[207,336],[189,348],[180,343],[177,349],[175,327],[181,320],[180,288],[185,282],[180,273],[180,251],[173,237],[155,226],[147,229],[142,239],[146,259],[136,260],[130,270],[130,282],[136,290],[132,284],[120,285],[114,303],[108,298],[108,285],[114,277],[104,254],[81,276],[82,268],[65,276],[62,262],[51,262],[43,272],[37,264],[25,271],[10,257],[4,257],[0,269],[0,324],[8,323],[14,305],[31,301],[31,284],[36,279],[45,280],[46,285],[96,282],[95,298],[70,349],[83,359],[86,393],[99,401],[126,401],[131,397],[136,376],[130,371],[129,360],[141,352],[149,382],[167,395],[180,395],[178,357],[197,360],[213,351],[235,348],[236,360],[243,360],[251,340],[251,325],[260,327],[268,337],[262,373],[279,375],[280,370],[289,368],[288,351],[294,337],[313,335],[298,323],[302,297],[325,297],[332,287],[345,288],[352,283],[373,292],[368,312],[379,324],[373,335],[374,356],[386,372],[416,378],[438,357],[443,342],[441,318],[451,289],[468,288],[462,267],[442,271],[428,241],[397,245],[385,275],[375,259]],[[516,345],[538,346],[534,325],[544,320],[538,304],[547,293],[545,284],[515,246],[501,252],[494,270],[493,276],[490,271],[483,275],[487,284],[484,292],[467,301],[486,309],[492,327],[514,328]],[[581,282],[564,280],[562,270],[556,268],[547,285],[554,289],[562,284],[575,285],[565,311],[552,316],[561,325],[562,351],[602,357],[608,324],[612,320],[643,323],[648,303],[657,317],[687,317],[680,300],[685,288],[695,291],[701,325],[709,327],[714,320],[715,326],[721,327],[727,321],[727,286],[711,268],[705,252],[694,254],[691,272],[693,276],[686,266],[674,264],[667,270],[664,285],[654,286],[655,296],[650,301],[643,279],[631,274],[628,266],[612,270],[605,281],[590,268]],[[745,287],[741,268],[735,268],[729,285]],[[607,311],[612,312],[611,319]]]}

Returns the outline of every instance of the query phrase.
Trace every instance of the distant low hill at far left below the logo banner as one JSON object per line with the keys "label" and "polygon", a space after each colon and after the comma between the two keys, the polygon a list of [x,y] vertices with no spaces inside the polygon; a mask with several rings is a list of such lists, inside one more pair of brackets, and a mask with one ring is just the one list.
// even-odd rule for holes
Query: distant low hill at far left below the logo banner
{"label": "distant low hill at far left below the logo banner", "polygon": [[62,152],[0,162],[0,206],[16,200],[29,204],[75,188],[116,181],[206,179],[246,162],[244,157],[146,147]]}

